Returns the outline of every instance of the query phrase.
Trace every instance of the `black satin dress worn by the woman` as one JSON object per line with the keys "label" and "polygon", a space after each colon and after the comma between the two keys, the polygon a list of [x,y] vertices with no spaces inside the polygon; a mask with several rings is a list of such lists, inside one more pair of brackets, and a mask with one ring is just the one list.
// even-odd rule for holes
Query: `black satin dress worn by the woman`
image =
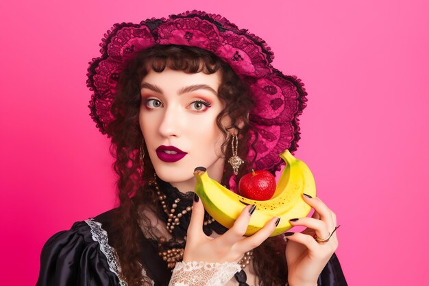
{"label": "black satin dress worn by the woman", "polygon": [[[171,190],[169,195],[177,195]],[[118,277],[119,265],[109,245],[113,210],[93,219],[76,222],[70,230],[53,235],[42,249],[36,286],[125,286]],[[171,270],[158,255],[158,244],[140,235],[145,276],[156,286],[169,285]],[[318,285],[347,285],[341,265],[333,254],[319,276]]]}

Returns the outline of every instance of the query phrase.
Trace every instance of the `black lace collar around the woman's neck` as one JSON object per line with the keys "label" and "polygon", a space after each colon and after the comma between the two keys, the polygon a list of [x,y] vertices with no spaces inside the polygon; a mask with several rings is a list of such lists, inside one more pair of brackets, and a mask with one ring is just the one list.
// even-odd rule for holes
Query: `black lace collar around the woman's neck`
{"label": "black lace collar around the woman's neck", "polygon": [[[180,199],[180,202],[177,203],[177,207],[175,208],[175,213],[180,213],[183,210],[185,210],[188,206],[192,206],[193,204],[193,198],[194,198],[194,192],[188,191],[186,193],[180,192],[177,188],[173,187],[169,182],[164,182],[160,178],[157,178],[158,187],[160,191],[167,196],[167,199],[165,200],[167,207],[171,208],[173,204],[175,203],[176,199]],[[162,213],[161,217],[164,222],[167,223],[167,214]],[[204,221],[208,221],[210,219],[210,215],[206,212],[204,215]],[[191,212],[186,213],[185,215],[182,215],[180,217],[179,222],[180,224],[176,226],[173,230],[173,236],[175,239],[184,239],[186,240],[186,231],[188,230],[189,222],[191,221]],[[212,222],[212,224],[208,224],[207,226],[203,227],[204,233],[206,235],[211,235],[213,231],[218,234],[225,233],[228,228],[225,228],[219,222]]]}

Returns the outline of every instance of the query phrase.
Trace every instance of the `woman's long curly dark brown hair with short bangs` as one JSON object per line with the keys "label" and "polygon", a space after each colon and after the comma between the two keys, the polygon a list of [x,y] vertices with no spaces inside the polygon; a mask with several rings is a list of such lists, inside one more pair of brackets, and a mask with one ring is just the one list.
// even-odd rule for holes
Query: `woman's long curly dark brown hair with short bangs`
{"label": "woman's long curly dark brown hair with short bangs", "polygon": [[[177,45],[157,45],[145,49],[136,54],[127,64],[119,76],[117,94],[112,104],[114,121],[106,128],[107,134],[112,139],[110,152],[114,156],[114,171],[118,175],[117,189],[119,191],[119,208],[113,225],[112,244],[117,251],[121,265],[121,278],[127,281],[129,286],[142,285],[145,278],[142,275],[142,264],[138,257],[141,248],[138,243],[140,235],[141,214],[138,206],[147,204],[156,206],[157,196],[153,189],[145,187],[149,180],[154,178],[154,167],[148,156],[141,164],[139,154],[143,134],[138,123],[140,109],[140,82],[152,70],[162,72],[169,68],[185,73],[203,72],[207,74],[221,73],[219,86],[219,99],[224,103],[224,109],[217,116],[217,126],[223,132],[225,141],[221,147],[225,158],[232,156],[229,147],[228,130],[238,130],[239,139],[243,144],[238,148],[238,156],[247,158],[249,148],[253,143],[249,140],[251,123],[247,115],[254,105],[249,95],[249,87],[245,80],[238,78],[232,68],[213,53],[197,47],[184,47]],[[223,126],[221,119],[230,117],[230,126]],[[243,123],[243,124],[241,124]],[[241,127],[240,127],[241,126]],[[254,139],[254,141],[256,141]],[[225,151],[225,152],[224,152]],[[145,149],[147,154],[147,150]],[[256,154],[256,152],[254,152]],[[221,184],[230,187],[230,179],[235,184],[244,174],[250,171],[253,160],[241,167],[238,176],[233,176],[232,168],[225,166]],[[226,160],[225,160],[226,163]],[[154,212],[161,217],[161,208],[154,208]],[[280,237],[267,239],[261,246],[254,250],[254,269],[260,278],[260,285],[284,285],[286,283],[286,261],[284,259],[284,241]],[[148,281],[146,281],[148,282]],[[150,285],[148,283],[148,285]]]}

